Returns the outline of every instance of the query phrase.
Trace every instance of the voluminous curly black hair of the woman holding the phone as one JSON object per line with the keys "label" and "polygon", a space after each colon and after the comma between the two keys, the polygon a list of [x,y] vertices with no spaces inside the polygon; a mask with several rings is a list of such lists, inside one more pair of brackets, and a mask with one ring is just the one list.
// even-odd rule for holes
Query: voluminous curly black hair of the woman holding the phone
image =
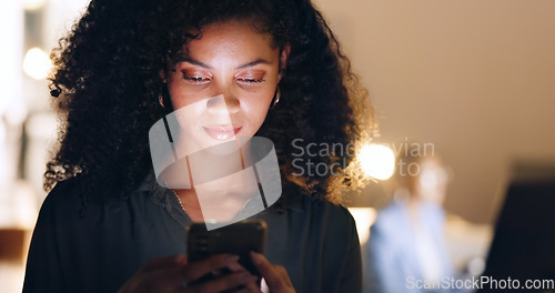
{"label": "voluminous curly black hair of the woman holding the phone", "polygon": [[[305,153],[314,164],[293,175],[292,141],[347,145],[375,122],[366,91],[310,0],[92,0],[51,55],[50,90],[63,123],[44,189],[73,176],[81,180],[80,194],[91,196],[137,188],[152,170],[149,129],[171,111],[158,101],[161,91],[168,94],[160,72],[183,43],[201,38],[185,31],[230,20],[248,20],[280,48],[291,44],[281,101],[256,135],[274,142],[284,185],[336,202],[335,186],[359,179],[334,162],[353,158]],[[310,170],[317,164],[343,175]]]}

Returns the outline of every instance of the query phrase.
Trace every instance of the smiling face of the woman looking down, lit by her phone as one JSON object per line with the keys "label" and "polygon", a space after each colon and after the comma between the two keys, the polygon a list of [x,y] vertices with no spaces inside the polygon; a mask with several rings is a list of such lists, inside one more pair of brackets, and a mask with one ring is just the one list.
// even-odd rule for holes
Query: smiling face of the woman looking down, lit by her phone
{"label": "smiling face of the woman looking down, lit by her phone", "polygon": [[204,149],[252,138],[266,117],[287,54],[289,49],[280,53],[270,34],[244,21],[206,26],[200,39],[184,44],[165,80],[189,143]]}

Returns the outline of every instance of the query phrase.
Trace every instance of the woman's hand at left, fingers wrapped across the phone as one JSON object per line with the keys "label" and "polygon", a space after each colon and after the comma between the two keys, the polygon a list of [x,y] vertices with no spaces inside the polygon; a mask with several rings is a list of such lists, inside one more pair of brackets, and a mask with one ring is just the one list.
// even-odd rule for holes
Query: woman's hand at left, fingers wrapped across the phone
{"label": "woman's hand at left, fingers wrapped across the phone", "polygon": [[[221,292],[239,285],[253,287],[256,276],[245,270],[238,270],[239,256],[218,254],[202,261],[188,263],[185,255],[172,255],[150,260],[118,291],[118,293],[164,293],[164,292]],[[183,286],[201,276],[228,267],[230,274],[213,280]]]}

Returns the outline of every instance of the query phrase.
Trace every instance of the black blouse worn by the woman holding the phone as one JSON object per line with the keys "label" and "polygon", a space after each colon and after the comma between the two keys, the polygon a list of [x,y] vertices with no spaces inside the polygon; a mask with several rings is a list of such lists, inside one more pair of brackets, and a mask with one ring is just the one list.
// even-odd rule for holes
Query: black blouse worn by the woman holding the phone
{"label": "black blouse worn by the woman holding the phone", "polygon": [[[72,180],[58,183],[40,210],[23,292],[117,292],[150,259],[185,254],[191,219],[152,178],[125,200],[89,203],[84,215]],[[287,198],[294,200],[283,212],[252,216],[268,224],[268,260],[286,269],[297,292],[361,292],[361,250],[349,211],[302,194]]]}

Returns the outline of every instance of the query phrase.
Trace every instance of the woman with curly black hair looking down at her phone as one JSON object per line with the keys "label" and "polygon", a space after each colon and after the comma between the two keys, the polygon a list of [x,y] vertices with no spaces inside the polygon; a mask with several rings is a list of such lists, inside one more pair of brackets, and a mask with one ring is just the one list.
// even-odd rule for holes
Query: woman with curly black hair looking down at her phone
{"label": "woman with curly black hair looking down at her phone", "polygon": [[[253,216],[268,224],[265,255],[252,261],[269,291],[361,291],[354,221],[334,204],[336,188],[359,183],[337,163],[351,152],[299,149],[361,138],[366,97],[309,0],[93,0],[53,57],[51,94],[65,123],[24,292],[260,291],[233,255],[184,256],[184,228],[206,220],[202,196],[159,185],[149,148],[151,127],[181,109],[198,123],[224,110],[231,122],[202,124],[202,140],[255,134],[275,146],[282,195]],[[222,219],[248,205],[218,200]],[[232,273],[183,286],[222,267]]]}

